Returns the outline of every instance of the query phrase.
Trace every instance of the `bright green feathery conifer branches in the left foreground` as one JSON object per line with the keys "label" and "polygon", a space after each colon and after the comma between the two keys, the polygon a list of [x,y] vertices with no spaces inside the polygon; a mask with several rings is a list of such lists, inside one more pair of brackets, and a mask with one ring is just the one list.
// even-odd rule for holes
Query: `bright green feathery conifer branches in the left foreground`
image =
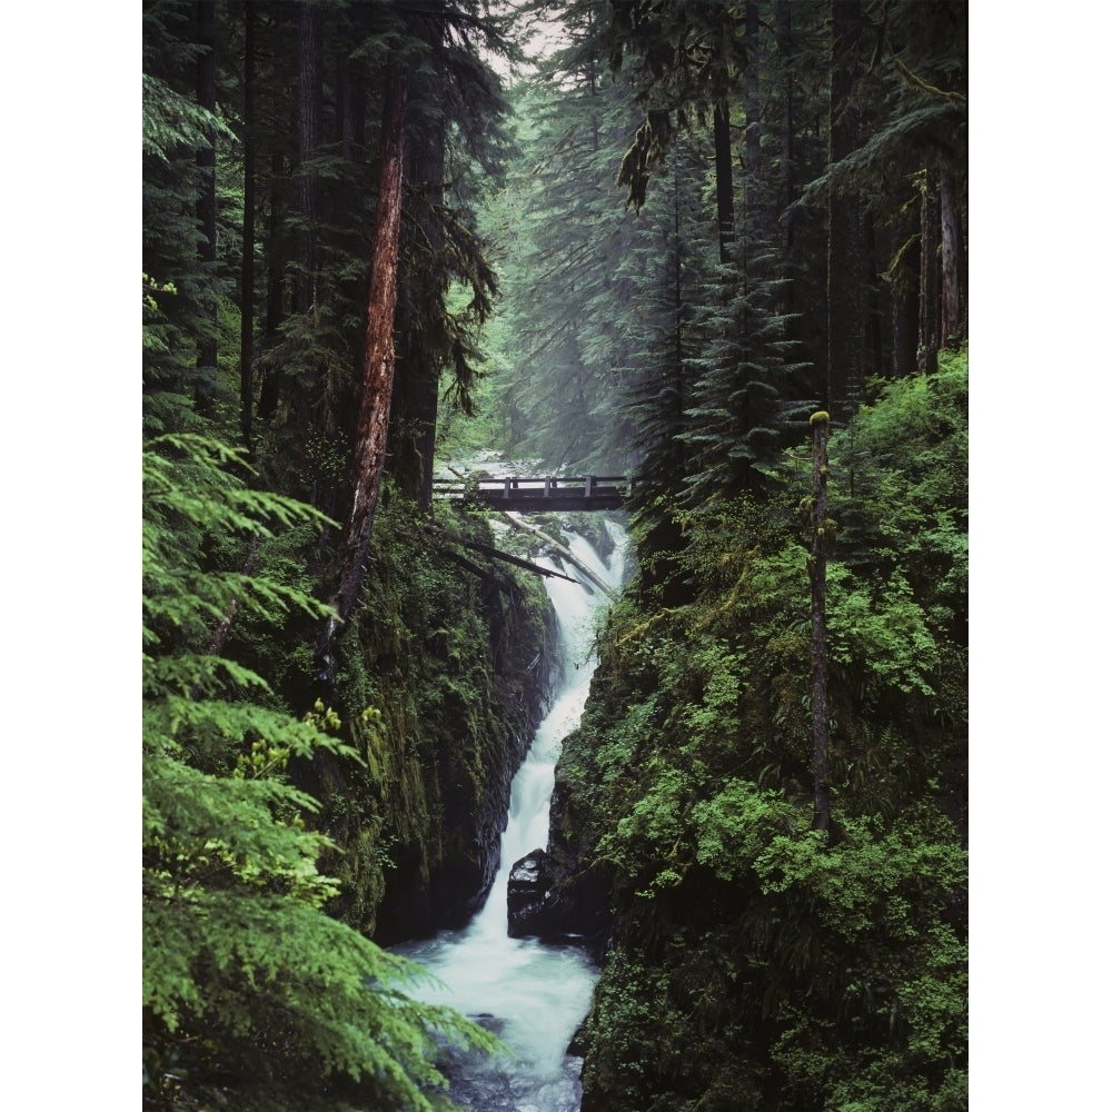
{"label": "bright green feathery conifer branches in the left foreground", "polygon": [[318,804],[284,767],[355,755],[335,712],[264,705],[266,679],[210,642],[237,610],[322,613],[206,555],[319,515],[251,490],[235,451],[195,435],[148,444],[143,495],[145,1106],[448,1108],[440,1040],[495,1041],[411,1001],[419,967],[321,911],[336,882],[305,821]]}

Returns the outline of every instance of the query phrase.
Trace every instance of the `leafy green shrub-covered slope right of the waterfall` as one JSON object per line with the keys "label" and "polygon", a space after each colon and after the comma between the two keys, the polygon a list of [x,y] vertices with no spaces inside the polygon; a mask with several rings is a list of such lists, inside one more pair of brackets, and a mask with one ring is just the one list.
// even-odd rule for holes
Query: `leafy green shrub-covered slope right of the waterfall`
{"label": "leafy green shrub-covered slope right of the waterfall", "polygon": [[610,612],[554,831],[613,891],[585,1112],[966,1106],[966,389],[944,356],[831,437],[828,833],[806,460]]}

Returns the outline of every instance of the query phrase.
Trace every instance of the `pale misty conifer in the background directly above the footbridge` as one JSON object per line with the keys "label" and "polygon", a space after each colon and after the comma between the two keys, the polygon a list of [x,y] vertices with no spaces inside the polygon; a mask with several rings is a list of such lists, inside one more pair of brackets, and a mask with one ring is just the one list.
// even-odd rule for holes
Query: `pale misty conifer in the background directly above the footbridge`
{"label": "pale misty conifer in the background directly above the footbridge", "polygon": [[503,290],[514,350],[514,450],[547,467],[622,468],[627,434],[615,406],[629,365],[633,308],[623,260],[633,235],[615,201],[613,159],[628,127],[597,57],[569,72],[556,103],[522,91],[534,122],[506,196]]}

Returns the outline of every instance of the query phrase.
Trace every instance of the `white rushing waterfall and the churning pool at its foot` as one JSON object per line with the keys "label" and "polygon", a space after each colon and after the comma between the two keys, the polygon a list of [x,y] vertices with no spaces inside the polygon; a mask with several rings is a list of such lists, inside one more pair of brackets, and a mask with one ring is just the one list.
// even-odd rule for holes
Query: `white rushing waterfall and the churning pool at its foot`
{"label": "white rushing waterfall and the churning pool at its foot", "polygon": [[[577,559],[616,589],[628,538],[614,523],[607,522],[607,529],[617,545],[607,563],[583,537],[565,534],[565,539]],[[576,574],[574,568],[558,569]],[[473,1056],[454,1065],[451,1095],[475,1112],[578,1110],[580,1062],[566,1050],[587,1014],[598,976],[578,946],[512,939],[507,933],[509,872],[518,858],[548,843],[556,761],[564,738],[583,714],[595,668],[595,620],[609,602],[579,582],[549,578],[545,585],[559,622],[563,678],[555,684],[552,708],[514,777],[490,895],[464,929],[395,947],[443,982],[441,989],[421,990],[423,1000],[449,1004],[478,1019],[513,1051],[510,1060]]]}

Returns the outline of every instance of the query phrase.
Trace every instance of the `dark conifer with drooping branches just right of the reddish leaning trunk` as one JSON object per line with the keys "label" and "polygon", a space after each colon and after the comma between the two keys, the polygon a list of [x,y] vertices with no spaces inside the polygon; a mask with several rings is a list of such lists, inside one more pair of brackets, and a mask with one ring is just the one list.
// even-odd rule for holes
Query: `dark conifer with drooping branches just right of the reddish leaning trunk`
{"label": "dark conifer with drooping branches just right of the reddish leaning trunk", "polygon": [[487,59],[513,50],[474,6],[441,2],[423,14],[413,28],[420,61],[410,81],[390,474],[427,509],[441,388],[474,413],[478,332],[498,290],[476,201],[497,189],[507,152],[508,105]]}

